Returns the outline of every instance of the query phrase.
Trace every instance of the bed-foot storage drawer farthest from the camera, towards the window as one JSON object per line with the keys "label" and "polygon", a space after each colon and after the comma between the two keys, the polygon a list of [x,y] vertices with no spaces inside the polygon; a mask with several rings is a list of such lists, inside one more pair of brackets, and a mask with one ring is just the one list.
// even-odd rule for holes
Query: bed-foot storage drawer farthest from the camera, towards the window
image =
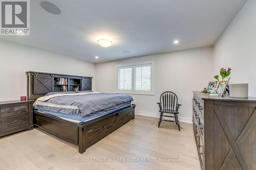
{"label": "bed-foot storage drawer farthest from the camera, towards the window", "polygon": [[134,109],[124,109],[117,115],[117,126],[120,127],[134,117]]}

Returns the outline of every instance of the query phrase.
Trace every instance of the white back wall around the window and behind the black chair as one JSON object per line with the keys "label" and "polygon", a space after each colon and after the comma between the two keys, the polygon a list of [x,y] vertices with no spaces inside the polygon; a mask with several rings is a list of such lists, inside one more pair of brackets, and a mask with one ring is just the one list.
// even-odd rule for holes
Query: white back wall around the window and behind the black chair
{"label": "white back wall around the window and behind the black chair", "polygon": [[96,64],[96,89],[116,91],[116,65],[154,61],[155,95],[134,95],[136,113],[156,116],[160,94],[170,90],[178,95],[181,120],[191,122],[193,90],[202,90],[212,80],[213,47]]}

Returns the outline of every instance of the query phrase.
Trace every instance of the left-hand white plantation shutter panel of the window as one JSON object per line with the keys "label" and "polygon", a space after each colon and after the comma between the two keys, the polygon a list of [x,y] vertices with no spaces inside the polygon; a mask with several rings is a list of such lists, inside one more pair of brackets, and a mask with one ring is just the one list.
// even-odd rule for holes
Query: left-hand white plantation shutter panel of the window
{"label": "left-hand white plantation shutter panel of the window", "polygon": [[117,89],[132,90],[132,67],[117,67]]}

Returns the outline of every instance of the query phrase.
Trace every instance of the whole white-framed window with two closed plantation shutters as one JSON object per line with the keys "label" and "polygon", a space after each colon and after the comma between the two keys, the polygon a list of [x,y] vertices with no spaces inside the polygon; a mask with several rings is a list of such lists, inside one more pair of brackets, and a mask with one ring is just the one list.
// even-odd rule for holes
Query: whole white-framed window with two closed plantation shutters
{"label": "whole white-framed window with two closed plantation shutters", "polygon": [[152,64],[117,67],[117,89],[126,92],[152,92]]}

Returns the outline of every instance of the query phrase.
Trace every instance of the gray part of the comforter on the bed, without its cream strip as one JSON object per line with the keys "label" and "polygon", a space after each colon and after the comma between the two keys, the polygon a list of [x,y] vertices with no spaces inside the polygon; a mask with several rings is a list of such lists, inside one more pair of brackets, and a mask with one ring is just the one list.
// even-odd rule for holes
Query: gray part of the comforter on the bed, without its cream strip
{"label": "gray part of the comforter on the bed, without its cream strip", "polygon": [[[40,101],[40,99],[39,99]],[[115,93],[92,93],[84,95],[64,95],[55,96],[47,101],[48,103],[56,105],[70,105],[77,106],[74,108],[57,108],[51,106],[41,106],[35,103],[35,109],[44,109],[53,112],[61,112],[66,114],[81,114],[82,116],[98,113],[109,108],[114,109],[115,106],[126,104],[133,101],[131,95],[128,94],[115,94]]]}

